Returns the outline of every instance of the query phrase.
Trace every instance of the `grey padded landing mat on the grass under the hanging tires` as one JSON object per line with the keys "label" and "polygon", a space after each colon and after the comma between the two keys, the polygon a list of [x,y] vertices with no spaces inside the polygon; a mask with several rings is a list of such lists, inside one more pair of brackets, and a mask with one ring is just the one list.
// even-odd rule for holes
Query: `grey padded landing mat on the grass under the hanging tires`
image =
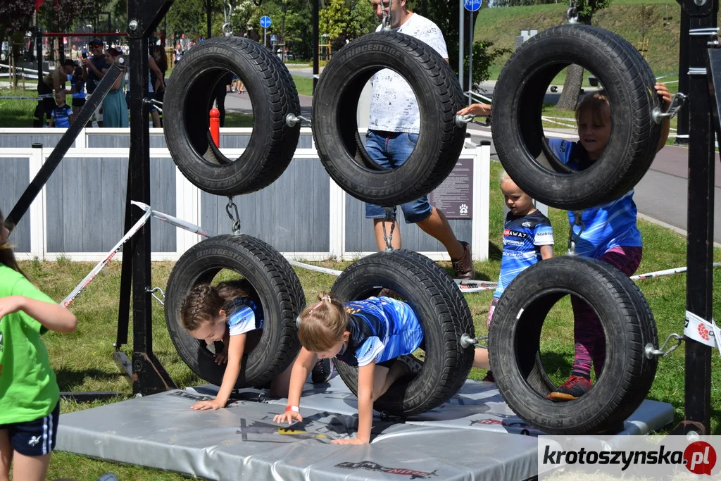
{"label": "grey padded landing mat on the grass under the hanging tires", "polygon": [[[243,389],[229,407],[193,411],[216,387],[174,390],[61,415],[57,449],[211,480],[525,480],[536,475],[539,434],[519,420],[495,384],[466,381],[452,400],[406,420],[373,421],[373,442],[335,446],[357,426],[341,379],[301,398],[304,420],[273,423],[286,400]],[[673,420],[671,405],[645,401],[625,432]],[[519,436],[523,433],[531,436]]]}

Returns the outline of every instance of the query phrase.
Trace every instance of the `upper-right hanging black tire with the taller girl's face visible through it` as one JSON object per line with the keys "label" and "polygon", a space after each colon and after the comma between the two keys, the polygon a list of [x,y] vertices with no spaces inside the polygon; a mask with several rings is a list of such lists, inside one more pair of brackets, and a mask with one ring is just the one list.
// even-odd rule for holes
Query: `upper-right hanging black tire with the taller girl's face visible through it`
{"label": "upper-right hanging black tire with the taller girl's face visible through it", "polygon": [[[598,161],[564,172],[537,160],[544,143],[541,108],[554,76],[571,63],[596,74],[611,104],[611,138]],[[655,76],[619,35],[589,25],[562,25],[523,43],[505,63],[493,97],[493,143],[508,175],[532,198],[580,210],[627,193],[645,175],[658,149],[661,126]]]}

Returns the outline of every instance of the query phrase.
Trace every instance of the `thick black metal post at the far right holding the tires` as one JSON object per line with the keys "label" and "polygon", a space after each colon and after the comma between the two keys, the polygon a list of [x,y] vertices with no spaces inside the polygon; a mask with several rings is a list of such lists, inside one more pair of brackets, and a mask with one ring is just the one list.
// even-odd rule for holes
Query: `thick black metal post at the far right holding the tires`
{"label": "thick black metal post at the far right holding the tires", "polygon": [[[699,29],[716,27],[717,0],[683,0],[681,8],[689,15],[689,210],[686,262],[686,309],[711,319],[713,298],[714,225],[714,138],[710,108],[706,56],[711,35]],[[710,78],[710,76],[708,77]],[[696,431],[710,434],[711,428],[711,348],[686,340],[684,422],[673,433]]]}

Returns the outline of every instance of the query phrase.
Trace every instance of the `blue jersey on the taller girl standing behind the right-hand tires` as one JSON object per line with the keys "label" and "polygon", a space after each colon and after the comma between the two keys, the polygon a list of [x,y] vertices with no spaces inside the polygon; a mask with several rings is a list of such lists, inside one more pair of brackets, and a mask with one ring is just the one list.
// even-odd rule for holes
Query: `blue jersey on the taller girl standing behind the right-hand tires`
{"label": "blue jersey on the taller girl standing behind the right-hand tires", "polygon": [[[573,169],[583,170],[590,166],[585,149],[576,142],[549,138],[551,151],[561,162]],[[633,190],[621,198],[583,211],[583,232],[576,243],[576,254],[598,259],[614,247],[642,247],[641,233],[636,226],[636,203]],[[575,222],[572,211],[568,212],[570,224]],[[580,226],[573,226],[578,232]]]}

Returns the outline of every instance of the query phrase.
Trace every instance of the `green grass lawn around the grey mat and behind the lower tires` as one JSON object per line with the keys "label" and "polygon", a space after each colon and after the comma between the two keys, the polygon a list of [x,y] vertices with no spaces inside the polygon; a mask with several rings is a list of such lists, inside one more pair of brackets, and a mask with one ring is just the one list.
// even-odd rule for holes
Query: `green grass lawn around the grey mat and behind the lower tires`
{"label": "green grass lawn around the grey mat and behind the lower tires", "polygon": [[[492,163],[490,190],[490,260],[477,262],[478,279],[497,279],[500,269],[500,251],[502,249],[503,198],[497,186],[501,166]],[[567,213],[551,209],[549,218],[554,226],[556,239],[555,251],[558,255],[566,250]],[[686,239],[663,227],[640,221],[644,242],[644,258],[639,272],[649,272],[665,268],[686,265]],[[721,261],[721,250],[715,250],[715,261]],[[318,262],[331,268],[342,269],[349,262]],[[63,299],[66,294],[92,268],[89,262],[21,262],[32,281],[53,297]],[[442,265],[450,272],[448,262]],[[153,286],[164,287],[167,283],[172,262],[154,262],[152,270]],[[308,270],[296,269],[304,287],[306,299],[314,299],[317,291],[331,288],[335,278],[330,275]],[[48,346],[50,360],[58,376],[58,384],[63,391],[102,391],[112,390],[128,396],[131,386],[127,379],[119,374],[111,354],[115,340],[115,326],[118,317],[118,288],[120,286],[120,263],[111,262],[91,283],[87,290],[71,306],[79,319],[76,332],[61,335],[49,332],[44,340]],[[682,332],[685,312],[686,275],[679,274],[665,278],[640,281],[658,325],[660,340],[670,332]],[[713,309],[717,319],[721,318],[721,275],[717,271],[714,283]],[[477,335],[486,332],[486,317],[491,301],[490,291],[466,294],[466,300],[474,317]],[[562,299],[549,314],[541,338],[541,350],[547,361],[549,375],[554,381],[562,381],[568,375],[572,363],[572,316],[567,299]],[[153,303],[154,353],[180,386],[187,387],[202,383],[174,349],[165,327],[162,306]],[[131,325],[132,330],[132,325]],[[132,339],[132,332],[131,332]],[[131,349],[123,346],[130,356]],[[721,433],[721,361],[713,356],[712,361],[712,427],[714,433]],[[485,371],[473,369],[471,379],[482,379]],[[658,374],[648,397],[653,400],[670,402],[676,411],[675,423],[682,418],[684,406],[684,346],[659,362]],[[95,403],[94,405],[97,405]],[[94,405],[63,402],[63,412],[87,409]],[[181,480],[180,475],[159,472],[140,467],[126,467],[101,462],[74,454],[56,453],[50,464],[50,479],[70,477],[77,480],[94,480],[103,472],[112,471],[125,480]]]}

